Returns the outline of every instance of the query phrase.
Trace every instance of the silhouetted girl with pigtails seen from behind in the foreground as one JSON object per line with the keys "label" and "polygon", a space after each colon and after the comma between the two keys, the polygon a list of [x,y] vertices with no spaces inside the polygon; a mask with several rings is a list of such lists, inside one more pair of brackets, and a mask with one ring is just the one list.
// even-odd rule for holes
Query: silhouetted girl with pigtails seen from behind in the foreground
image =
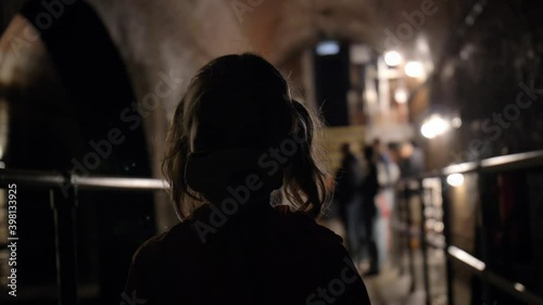
{"label": "silhouetted girl with pigtails seen from behind in the foreground", "polygon": [[[137,251],[124,297],[369,304],[341,238],[313,219],[329,199],[313,154],[315,124],[262,58],[204,66],[174,114],[164,161],[182,223]],[[290,209],[270,205],[281,186]]]}

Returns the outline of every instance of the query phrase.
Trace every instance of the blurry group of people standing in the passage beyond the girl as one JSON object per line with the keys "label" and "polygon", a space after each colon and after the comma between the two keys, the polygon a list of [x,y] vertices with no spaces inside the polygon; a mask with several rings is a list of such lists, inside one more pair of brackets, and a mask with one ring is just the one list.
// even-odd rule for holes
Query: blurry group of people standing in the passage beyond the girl
{"label": "blurry group of people standing in the passage beyond the girl", "polygon": [[391,190],[401,173],[379,139],[364,147],[362,158],[355,154],[353,147],[352,143],[344,143],[341,148],[343,158],[336,175],[334,199],[351,255],[361,259],[366,253],[369,269],[365,275],[374,276],[379,274],[381,263],[376,237],[376,221],[379,218],[376,196]]}

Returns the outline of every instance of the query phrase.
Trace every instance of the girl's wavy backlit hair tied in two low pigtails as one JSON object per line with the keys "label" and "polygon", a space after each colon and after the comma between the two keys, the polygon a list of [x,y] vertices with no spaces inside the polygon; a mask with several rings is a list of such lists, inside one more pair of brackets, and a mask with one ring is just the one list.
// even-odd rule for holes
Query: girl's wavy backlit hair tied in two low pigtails
{"label": "girl's wavy backlit hair tied in two low pigtails", "polygon": [[[218,116],[217,106],[229,113]],[[240,109],[250,115],[240,116],[236,113]],[[314,142],[321,120],[291,98],[289,85],[276,67],[258,55],[243,53],[215,59],[202,67],[174,113],[162,171],[169,182],[171,198],[181,220],[206,203],[184,178],[193,122],[214,122],[216,117],[222,117],[223,123],[224,117],[228,117],[228,124],[248,126],[232,129],[244,130],[236,143],[224,143],[217,137],[204,139],[207,150],[269,148],[296,137],[298,149],[282,167],[285,194],[294,209],[315,218],[323,214],[331,193],[327,188],[329,175],[324,166],[323,151]],[[228,126],[214,127],[216,130],[212,132],[228,132],[223,130],[228,130]]]}

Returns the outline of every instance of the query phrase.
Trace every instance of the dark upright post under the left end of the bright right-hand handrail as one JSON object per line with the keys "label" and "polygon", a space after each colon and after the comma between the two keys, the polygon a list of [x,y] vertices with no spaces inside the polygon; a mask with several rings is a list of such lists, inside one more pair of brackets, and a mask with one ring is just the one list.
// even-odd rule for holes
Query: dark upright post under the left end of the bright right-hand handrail
{"label": "dark upright post under the left end of the bright right-hand handrail", "polygon": [[451,245],[451,201],[449,200],[449,188],[443,177],[441,180],[441,203],[443,207],[443,237],[445,238],[445,266],[446,266],[446,289],[447,289],[447,303],[449,305],[454,304],[454,291],[453,291],[453,262],[452,257],[449,255],[449,246]]}

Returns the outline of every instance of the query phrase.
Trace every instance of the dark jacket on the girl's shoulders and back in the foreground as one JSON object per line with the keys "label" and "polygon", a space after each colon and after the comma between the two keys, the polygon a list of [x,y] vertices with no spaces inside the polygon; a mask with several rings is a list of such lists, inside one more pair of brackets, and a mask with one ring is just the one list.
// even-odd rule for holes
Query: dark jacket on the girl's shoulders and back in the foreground
{"label": "dark jacket on the girl's shoulders and back in the foreground", "polygon": [[210,224],[209,206],[150,239],[134,256],[126,295],[146,305],[370,304],[340,237],[267,202],[241,205],[205,243],[194,228]]}

